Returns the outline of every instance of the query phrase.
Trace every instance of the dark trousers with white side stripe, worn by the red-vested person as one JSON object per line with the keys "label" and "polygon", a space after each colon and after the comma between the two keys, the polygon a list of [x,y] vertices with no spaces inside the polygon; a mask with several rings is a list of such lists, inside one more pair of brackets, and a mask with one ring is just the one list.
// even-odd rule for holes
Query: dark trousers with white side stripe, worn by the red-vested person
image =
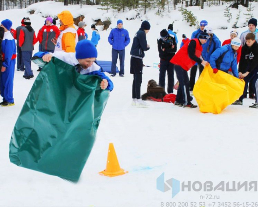
{"label": "dark trousers with white side stripe, worn by the red-vested person", "polygon": [[176,102],[183,103],[184,105],[190,104],[190,83],[187,71],[179,65],[175,65],[175,73],[179,81],[179,88],[176,94]]}

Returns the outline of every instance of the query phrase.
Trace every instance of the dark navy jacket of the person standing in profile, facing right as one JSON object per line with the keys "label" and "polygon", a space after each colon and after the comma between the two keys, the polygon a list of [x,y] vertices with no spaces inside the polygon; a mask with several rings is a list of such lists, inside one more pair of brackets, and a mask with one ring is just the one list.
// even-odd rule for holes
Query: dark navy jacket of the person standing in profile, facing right
{"label": "dark navy jacket of the person standing in profile, facing right", "polygon": [[139,29],[133,38],[130,55],[143,58],[144,51],[147,50],[150,50],[150,47],[147,47],[146,33],[144,30]]}

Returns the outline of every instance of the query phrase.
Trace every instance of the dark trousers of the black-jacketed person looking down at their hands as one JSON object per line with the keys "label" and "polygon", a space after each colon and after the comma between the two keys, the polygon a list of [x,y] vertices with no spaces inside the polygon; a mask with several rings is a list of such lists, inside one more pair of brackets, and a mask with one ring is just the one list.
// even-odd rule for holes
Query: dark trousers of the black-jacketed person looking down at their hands
{"label": "dark trousers of the black-jacketed person looking down at their hands", "polygon": [[169,60],[160,59],[159,86],[165,89],[166,72],[168,71],[168,94],[173,93],[174,64]]}

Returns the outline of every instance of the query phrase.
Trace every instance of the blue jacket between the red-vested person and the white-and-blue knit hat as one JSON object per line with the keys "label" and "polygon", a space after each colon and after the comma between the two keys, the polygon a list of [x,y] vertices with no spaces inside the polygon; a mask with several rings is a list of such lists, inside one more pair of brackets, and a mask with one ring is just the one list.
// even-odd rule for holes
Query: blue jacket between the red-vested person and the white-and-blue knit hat
{"label": "blue jacket between the red-vested person and the white-and-blue knit hat", "polygon": [[[211,45],[210,45],[211,43]],[[210,47],[209,47],[210,45]],[[208,52],[208,47],[209,47],[209,52]],[[204,60],[206,61],[210,61],[210,56],[212,55],[212,53],[221,47],[221,42],[219,41],[219,39],[217,38],[217,36],[215,36],[215,34],[213,34],[213,38],[211,40],[211,38],[208,39],[208,41],[202,45],[202,57],[204,58]]]}

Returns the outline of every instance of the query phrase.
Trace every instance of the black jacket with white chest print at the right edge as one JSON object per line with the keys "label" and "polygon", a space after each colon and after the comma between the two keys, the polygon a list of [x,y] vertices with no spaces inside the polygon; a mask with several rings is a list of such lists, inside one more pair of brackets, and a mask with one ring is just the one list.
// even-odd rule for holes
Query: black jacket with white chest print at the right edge
{"label": "black jacket with white chest print at the right edge", "polygon": [[258,43],[255,42],[251,47],[245,43],[241,51],[238,72],[251,73],[255,68],[258,69]]}

